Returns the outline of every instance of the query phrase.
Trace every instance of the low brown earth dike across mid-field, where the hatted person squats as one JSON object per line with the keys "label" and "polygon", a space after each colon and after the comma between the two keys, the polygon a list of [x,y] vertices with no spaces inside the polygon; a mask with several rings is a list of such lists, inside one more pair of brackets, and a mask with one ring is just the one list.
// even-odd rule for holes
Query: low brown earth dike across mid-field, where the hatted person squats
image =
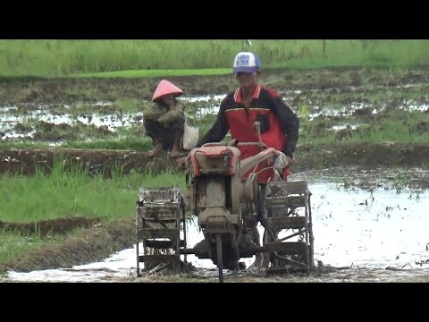
{"label": "low brown earth dike across mid-field, where the hatted person squats", "polygon": [[[186,153],[180,157],[186,157]],[[0,148],[0,174],[48,173],[55,160],[66,160],[68,166],[82,166],[89,174],[112,173],[114,167],[122,165],[123,173],[131,171],[158,174],[166,169],[177,169],[179,157],[147,157],[147,152],[133,150],[99,150],[80,148]],[[319,151],[306,151],[299,147],[295,155],[293,171],[299,172],[321,167],[365,165],[376,167],[420,166],[429,160],[429,143],[355,143],[326,146]]]}

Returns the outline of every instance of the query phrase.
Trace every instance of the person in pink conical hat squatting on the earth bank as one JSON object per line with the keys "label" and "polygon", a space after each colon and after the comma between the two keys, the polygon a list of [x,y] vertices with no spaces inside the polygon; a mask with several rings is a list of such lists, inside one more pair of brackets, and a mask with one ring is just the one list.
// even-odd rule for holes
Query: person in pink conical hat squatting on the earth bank
{"label": "person in pink conical hat squatting on the earth bank", "polygon": [[181,153],[185,114],[184,105],[177,99],[183,91],[168,80],[161,80],[156,87],[152,101],[154,105],[143,114],[146,135],[152,139],[154,148],[149,157],[159,155],[163,150],[170,151],[170,157]]}

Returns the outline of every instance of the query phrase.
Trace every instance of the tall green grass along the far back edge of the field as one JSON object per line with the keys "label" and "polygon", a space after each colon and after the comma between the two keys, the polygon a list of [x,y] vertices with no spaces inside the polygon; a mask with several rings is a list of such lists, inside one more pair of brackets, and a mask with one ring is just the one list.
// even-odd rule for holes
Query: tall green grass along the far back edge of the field
{"label": "tall green grass along the far back edge of the field", "polygon": [[429,64],[429,40],[256,39],[252,47],[242,39],[0,40],[0,76],[129,70],[225,72],[231,69],[233,57],[248,49],[259,55],[264,68]]}

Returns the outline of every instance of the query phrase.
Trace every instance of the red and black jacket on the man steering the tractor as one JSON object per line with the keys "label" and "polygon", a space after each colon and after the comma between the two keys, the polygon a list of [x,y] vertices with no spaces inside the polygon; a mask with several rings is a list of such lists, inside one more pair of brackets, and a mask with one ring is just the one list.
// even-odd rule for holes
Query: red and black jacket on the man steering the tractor
{"label": "red and black jacket on the man steering the tractor", "polygon": [[[231,131],[231,138],[238,139],[239,142],[257,142],[256,121],[261,123],[261,139],[267,147],[275,148],[286,156],[293,157],[299,138],[299,118],[282,101],[282,96],[277,91],[259,84],[253,92],[248,109],[242,104],[240,88],[223,98],[216,122],[198,142],[198,147],[207,142],[220,142],[228,131]],[[259,153],[257,146],[238,148],[241,151],[240,159]],[[261,163],[257,171],[265,166],[267,166],[266,163]],[[289,168],[285,168],[283,179],[286,180],[289,174]],[[273,170],[265,170],[257,175],[257,181],[266,183],[270,177],[273,179]]]}

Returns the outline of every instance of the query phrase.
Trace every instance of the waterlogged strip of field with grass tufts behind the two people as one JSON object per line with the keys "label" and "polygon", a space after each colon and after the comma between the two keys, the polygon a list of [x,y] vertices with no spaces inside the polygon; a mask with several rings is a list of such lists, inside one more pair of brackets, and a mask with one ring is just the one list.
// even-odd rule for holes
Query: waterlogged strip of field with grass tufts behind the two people
{"label": "waterlogged strip of field with grass tufts behind the two people", "polygon": [[[365,123],[356,123],[356,120],[349,120],[350,116],[362,114],[377,114],[390,108],[387,103],[375,105],[362,101],[352,101],[341,105],[326,105],[317,99],[310,100],[300,97],[301,90],[284,92],[283,100],[298,110],[308,109],[309,121],[320,117],[334,118],[336,124],[332,124],[325,130],[340,131],[345,128],[356,130],[358,126]],[[184,96],[181,100],[185,103],[186,113],[191,118],[200,119],[206,114],[216,114],[220,103],[226,94],[216,94],[209,96]],[[303,102],[297,104],[297,97]],[[125,109],[114,102],[100,101],[94,104],[74,105],[43,105],[24,104],[20,106],[0,106],[0,138],[2,140],[47,140],[52,141],[51,145],[62,143],[65,131],[76,132],[73,128],[80,129],[82,138],[88,138],[88,134],[97,137],[105,135],[116,135],[118,129],[141,127],[143,124],[142,107],[151,104],[148,101],[133,101],[132,108]],[[398,102],[400,110],[405,111],[428,111],[429,106],[425,101],[419,102],[416,99],[408,99]],[[83,130],[85,129],[85,130]],[[50,132],[58,132],[58,135],[49,135]],[[92,131],[92,134],[91,134]],[[47,132],[47,134],[46,134]],[[70,136],[70,135],[69,135]],[[116,135],[116,137],[118,137]],[[74,133],[73,139],[81,139]]]}

